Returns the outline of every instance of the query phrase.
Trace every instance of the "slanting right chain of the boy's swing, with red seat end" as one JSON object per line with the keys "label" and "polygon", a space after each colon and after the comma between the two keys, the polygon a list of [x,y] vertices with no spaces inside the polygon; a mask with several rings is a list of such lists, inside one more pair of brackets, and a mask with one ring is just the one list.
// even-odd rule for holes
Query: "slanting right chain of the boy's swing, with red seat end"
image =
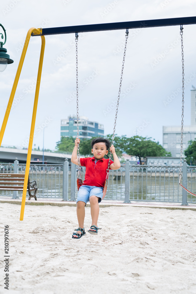
{"label": "slanting right chain of the boy's swing, with red seat end", "polygon": [[[113,129],[113,136],[112,136],[112,144],[111,145],[113,145],[113,143],[114,143],[115,126],[116,126],[118,105],[119,105],[119,99],[120,99],[120,90],[121,90],[121,85],[122,85],[122,80],[123,80],[123,69],[124,69],[124,63],[125,63],[125,53],[126,53],[126,49],[127,49],[128,34],[129,34],[129,30],[126,29],[126,34],[125,34],[126,40],[125,40],[125,49],[124,49],[124,55],[123,55],[123,65],[122,65],[122,71],[121,71],[121,77],[120,77],[120,86],[119,86],[119,91],[118,91],[118,101],[117,101],[117,107],[116,107],[116,115],[115,115],[115,122],[114,122],[114,129]],[[102,197],[102,199],[105,197],[105,194],[106,194],[106,191],[107,191],[108,176],[109,176],[111,158],[112,158],[112,152],[110,151],[110,157],[109,157],[109,161],[108,161],[107,175],[106,175],[105,184],[104,184],[104,188],[103,188],[103,197]]]}

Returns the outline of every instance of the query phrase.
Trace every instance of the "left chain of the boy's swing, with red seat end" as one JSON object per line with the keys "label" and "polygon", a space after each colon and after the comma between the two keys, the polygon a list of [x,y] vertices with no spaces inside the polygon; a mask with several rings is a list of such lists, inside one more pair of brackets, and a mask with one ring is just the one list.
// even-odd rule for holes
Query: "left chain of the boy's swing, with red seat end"
{"label": "left chain of the boy's swing, with red seat end", "polygon": [[[76,102],[77,102],[77,138],[79,138],[79,117],[78,117],[78,33],[76,33]],[[79,143],[78,143],[78,177],[77,177],[77,186],[78,186],[78,190],[80,188],[80,186],[82,186],[82,177],[81,177],[81,167],[80,167],[80,147],[79,147]],[[79,178],[79,174],[80,174],[80,178]]]}

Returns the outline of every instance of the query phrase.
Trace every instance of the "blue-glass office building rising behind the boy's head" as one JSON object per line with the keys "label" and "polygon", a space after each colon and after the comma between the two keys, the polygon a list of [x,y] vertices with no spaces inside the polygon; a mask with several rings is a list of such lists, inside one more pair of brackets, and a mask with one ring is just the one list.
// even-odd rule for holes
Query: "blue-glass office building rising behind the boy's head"
{"label": "blue-glass office building rising behind the boy's head", "polygon": [[[103,124],[96,121],[89,121],[86,116],[79,116],[79,137],[91,139],[92,137],[103,137]],[[61,119],[61,136],[77,136],[77,116],[69,116],[68,119]]]}

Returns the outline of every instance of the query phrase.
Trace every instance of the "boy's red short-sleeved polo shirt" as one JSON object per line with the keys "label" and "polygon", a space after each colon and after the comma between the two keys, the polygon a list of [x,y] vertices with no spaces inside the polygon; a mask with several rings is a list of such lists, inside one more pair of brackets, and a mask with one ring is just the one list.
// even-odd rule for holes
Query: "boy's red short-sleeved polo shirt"
{"label": "boy's red short-sleeved polo shirt", "polygon": [[[95,156],[80,158],[81,166],[86,166],[85,180],[83,185],[104,187],[109,158],[102,158],[97,162],[95,162],[95,160]],[[110,160],[110,165],[112,163],[114,162]]]}

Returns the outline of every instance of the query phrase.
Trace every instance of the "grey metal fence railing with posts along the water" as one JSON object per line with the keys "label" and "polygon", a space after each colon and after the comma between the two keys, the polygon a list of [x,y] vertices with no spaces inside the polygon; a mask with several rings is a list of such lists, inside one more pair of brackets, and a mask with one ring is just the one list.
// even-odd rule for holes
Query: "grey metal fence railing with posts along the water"
{"label": "grey metal fence railing with posts along the water", "polygon": [[[0,173],[25,173],[25,164],[19,164],[17,159],[13,164],[0,164]],[[182,185],[196,193],[196,166],[183,163]],[[82,167],[81,176],[84,180],[86,168]],[[180,166],[146,166],[130,165],[127,160],[118,170],[110,170],[108,188],[105,199],[131,201],[159,201],[196,203],[195,196],[182,189],[178,174]],[[63,198],[75,201],[77,198],[77,166],[68,159],[63,164],[30,164],[29,178],[37,183],[38,198]],[[0,196],[22,196],[19,191],[0,191]],[[28,192],[27,192],[28,196]]]}

